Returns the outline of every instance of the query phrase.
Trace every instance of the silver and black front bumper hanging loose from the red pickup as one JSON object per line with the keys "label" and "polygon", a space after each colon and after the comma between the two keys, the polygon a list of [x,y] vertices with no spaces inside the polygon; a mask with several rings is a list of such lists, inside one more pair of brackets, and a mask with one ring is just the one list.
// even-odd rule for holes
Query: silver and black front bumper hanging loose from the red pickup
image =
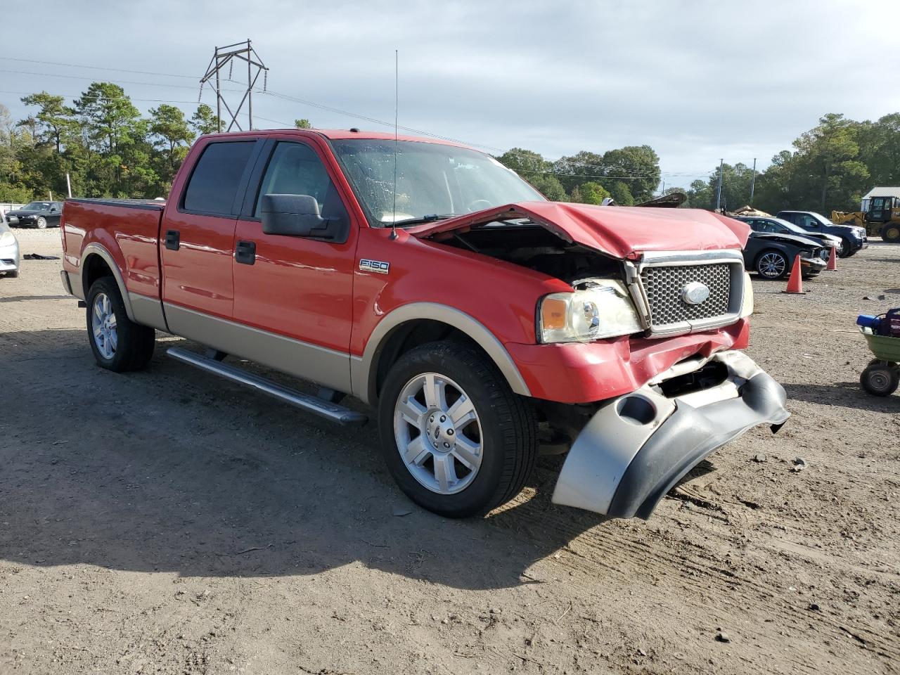
{"label": "silver and black front bumper hanging loose from the red pickup", "polygon": [[[708,362],[724,382],[667,398],[657,383]],[[790,413],[781,385],[742,352],[672,366],[641,389],[607,401],[572,444],[553,501],[610,518],[650,518],[675,483],[716,448],[752,427],[777,431]]]}

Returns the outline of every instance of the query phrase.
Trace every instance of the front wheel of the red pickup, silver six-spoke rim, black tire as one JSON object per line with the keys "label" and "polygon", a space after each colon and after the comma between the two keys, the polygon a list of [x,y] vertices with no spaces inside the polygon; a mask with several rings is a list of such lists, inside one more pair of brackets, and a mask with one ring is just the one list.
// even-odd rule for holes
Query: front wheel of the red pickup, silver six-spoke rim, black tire
{"label": "front wheel of the red pickup, silver six-spoke rim, black tire", "polygon": [[419,506],[448,518],[515,497],[534,468],[537,423],[473,347],[432,342],[392,366],[378,404],[384,461]]}

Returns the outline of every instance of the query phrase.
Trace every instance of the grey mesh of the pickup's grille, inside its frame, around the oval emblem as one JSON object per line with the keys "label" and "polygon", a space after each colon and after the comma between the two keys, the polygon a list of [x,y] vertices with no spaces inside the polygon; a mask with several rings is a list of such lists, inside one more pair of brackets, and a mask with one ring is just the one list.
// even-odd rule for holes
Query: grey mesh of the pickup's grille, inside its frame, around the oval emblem
{"label": "grey mesh of the pickup's grille, inside its frame, around the oval emblem", "polygon": [[[651,329],[685,321],[711,320],[728,314],[731,267],[728,263],[645,267],[641,272],[641,283],[650,306]],[[690,282],[707,285],[707,300],[689,304],[681,299],[682,289]]]}

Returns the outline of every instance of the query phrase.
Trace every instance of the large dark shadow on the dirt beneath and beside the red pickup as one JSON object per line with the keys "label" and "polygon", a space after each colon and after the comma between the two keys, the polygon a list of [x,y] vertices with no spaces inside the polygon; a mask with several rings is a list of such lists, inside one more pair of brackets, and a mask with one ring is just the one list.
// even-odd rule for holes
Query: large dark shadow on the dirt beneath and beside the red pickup
{"label": "large dark shadow on the dirt beneath and beside the red pickup", "polygon": [[320,422],[166,358],[174,344],[193,347],[166,337],[148,371],[112,374],[82,330],[0,333],[0,558],[204,577],[362,563],[490,589],[615,527],[549,502],[559,458],[487,518],[438,518],[394,486],[372,422]]}

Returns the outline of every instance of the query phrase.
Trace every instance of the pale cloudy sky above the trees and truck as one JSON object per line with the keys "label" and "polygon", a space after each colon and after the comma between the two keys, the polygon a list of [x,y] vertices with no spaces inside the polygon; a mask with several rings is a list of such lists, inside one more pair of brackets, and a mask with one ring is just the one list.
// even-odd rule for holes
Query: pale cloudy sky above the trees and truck
{"label": "pale cloudy sky above the trees and truck", "polygon": [[[396,49],[401,126],[548,159],[648,144],[667,186],[720,157],[765,168],[826,112],[900,111],[897,0],[6,0],[3,14],[0,103],[15,119],[23,94],[94,80],[144,112],[190,114],[213,49],[247,38],[271,92],[390,124]],[[210,87],[202,100],[214,106]],[[257,128],[389,129],[272,94],[253,106]]]}

